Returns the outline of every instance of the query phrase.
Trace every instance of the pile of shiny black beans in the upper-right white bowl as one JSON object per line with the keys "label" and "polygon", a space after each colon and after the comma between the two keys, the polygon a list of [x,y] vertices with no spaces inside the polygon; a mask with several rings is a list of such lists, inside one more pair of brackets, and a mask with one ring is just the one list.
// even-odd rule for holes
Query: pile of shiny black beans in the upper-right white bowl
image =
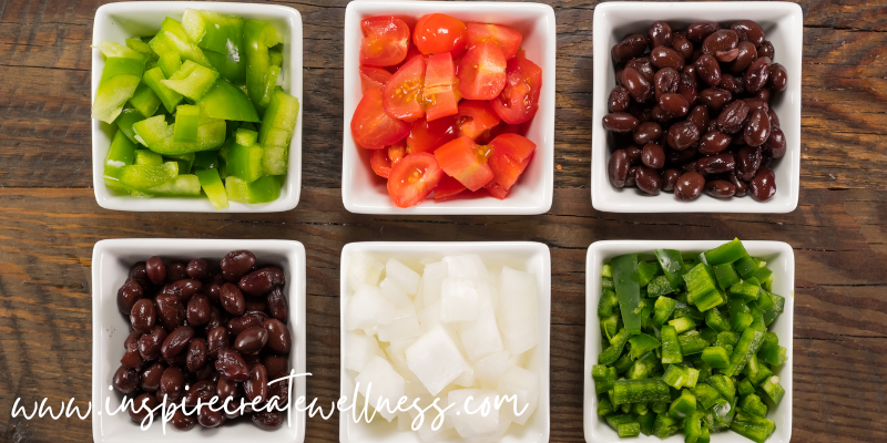
{"label": "pile of shiny black beans in the upper-right white bowl", "polygon": [[785,134],[769,107],[787,73],[761,25],[713,21],[672,30],[656,21],[611,52],[616,86],[603,126],[614,134],[608,174],[615,187],[638,186],[692,200],[776,193],[769,167],[785,155]]}

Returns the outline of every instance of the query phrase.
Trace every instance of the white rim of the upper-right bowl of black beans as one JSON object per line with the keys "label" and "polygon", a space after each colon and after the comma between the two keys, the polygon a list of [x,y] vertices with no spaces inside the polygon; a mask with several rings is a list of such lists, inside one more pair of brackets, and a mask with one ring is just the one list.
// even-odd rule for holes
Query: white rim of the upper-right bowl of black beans
{"label": "white rim of the upper-right bowl of black beans", "polygon": [[[693,3],[660,3],[651,1],[626,2],[615,1],[599,4],[594,9],[594,23],[593,40],[595,53],[610,53],[610,27],[597,25],[606,23],[605,14],[611,12],[636,12],[640,17],[651,17],[650,21],[656,20],[652,14],[661,11],[687,12],[699,20],[705,20],[706,13],[727,13],[731,11],[765,11],[773,14],[774,18],[791,19],[791,25],[786,27],[784,34],[788,35],[792,47],[788,48],[793,52],[803,53],[803,33],[804,33],[804,13],[802,8],[787,1],[702,1]],[[716,20],[722,21],[722,20]],[[784,60],[778,62],[784,63]],[[609,96],[610,87],[608,87],[604,72],[612,69],[612,62],[609,56],[595,58],[593,65],[594,72],[594,87],[592,100],[592,142],[591,142],[591,203],[592,207],[597,210],[608,213],[628,213],[628,214],[646,214],[646,213],[711,213],[711,214],[785,214],[791,213],[797,208],[798,196],[801,188],[801,151],[803,148],[801,141],[801,107],[802,107],[802,66],[803,61],[798,56],[796,63],[786,64],[789,72],[789,89],[791,103],[785,103],[783,106],[788,109],[793,117],[796,116],[797,124],[791,126],[783,125],[783,131],[786,133],[788,140],[797,141],[791,142],[789,154],[779,159],[777,165],[777,176],[787,177],[788,186],[781,187],[781,193],[787,193],[781,197],[778,202],[756,202],[748,198],[721,200],[707,195],[700,196],[694,202],[679,202],[676,199],[664,199],[662,195],[650,196],[649,199],[643,202],[626,202],[625,197],[621,194],[622,189],[614,188],[606,176],[606,163],[609,158],[609,143],[608,133],[599,123],[601,119],[608,113],[606,97]],[[782,174],[779,172],[782,171]],[[624,189],[632,192],[633,189]],[[633,197],[633,195],[632,195]],[[646,197],[646,196],[645,196]]]}

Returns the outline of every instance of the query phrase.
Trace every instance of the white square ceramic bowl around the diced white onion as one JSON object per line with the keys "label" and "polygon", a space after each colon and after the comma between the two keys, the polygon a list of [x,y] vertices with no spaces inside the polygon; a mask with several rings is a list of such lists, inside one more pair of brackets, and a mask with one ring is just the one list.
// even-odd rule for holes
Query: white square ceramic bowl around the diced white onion
{"label": "white square ceramic bowl around the diced white onion", "polygon": [[[490,271],[498,271],[503,266],[532,272],[537,278],[538,309],[539,309],[539,343],[524,354],[527,368],[539,373],[539,406],[536,413],[523,426],[512,424],[502,437],[503,443],[547,443],[549,441],[549,357],[550,357],[550,329],[551,329],[551,254],[548,246],[531,241],[369,241],[351,243],[341,249],[341,277],[340,302],[341,320],[339,334],[341,337],[340,354],[343,357],[340,369],[341,398],[347,398],[350,404],[354,394],[354,379],[356,372],[345,369],[345,306],[354,295],[348,287],[347,272],[353,253],[369,254],[383,264],[395,258],[402,261],[417,272],[421,274],[419,260],[432,262],[448,255],[477,254],[483,259]],[[412,400],[410,400],[411,402]],[[445,399],[446,401],[446,399]],[[435,414],[430,413],[428,420]],[[394,422],[376,418],[369,424],[364,420],[355,423],[351,412],[339,413],[339,441],[341,443],[420,443],[419,434],[414,431],[398,432]],[[461,439],[441,440],[446,443],[461,442]]]}

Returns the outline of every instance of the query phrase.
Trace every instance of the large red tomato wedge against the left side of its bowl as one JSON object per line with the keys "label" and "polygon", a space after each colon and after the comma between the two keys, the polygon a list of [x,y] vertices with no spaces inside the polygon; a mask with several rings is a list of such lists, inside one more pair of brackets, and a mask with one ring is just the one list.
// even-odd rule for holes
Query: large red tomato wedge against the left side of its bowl
{"label": "large red tomato wedge against the left side of its bowl", "polygon": [[409,123],[392,119],[381,106],[381,87],[369,89],[351,117],[351,135],[367,150],[381,150],[409,134]]}

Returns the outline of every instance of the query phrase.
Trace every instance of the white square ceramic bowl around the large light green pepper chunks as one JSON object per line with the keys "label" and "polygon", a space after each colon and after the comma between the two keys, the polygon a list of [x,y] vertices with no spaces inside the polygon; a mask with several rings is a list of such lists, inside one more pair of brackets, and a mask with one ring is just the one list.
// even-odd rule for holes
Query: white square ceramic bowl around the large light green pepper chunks
{"label": "white square ceramic bowl around the large light green pepper chunks", "polygon": [[[204,1],[134,1],[104,4],[95,11],[92,30],[92,44],[114,41],[124,44],[131,37],[153,35],[166,17],[182,20],[185,9],[204,9],[218,13],[238,16],[246,19],[271,23],[284,35],[284,63],[277,84],[298,99],[296,130],[289,142],[289,167],[281,189],[281,197],[274,202],[248,205],[231,202],[231,206],[217,210],[206,197],[136,198],[109,189],[104,185],[104,157],[114,135],[113,127],[99,120],[92,120],[92,186],[95,200],[105,209],[164,212],[164,213],[279,213],[289,210],[298,204],[302,190],[302,16],[297,10],[276,4],[215,3]],[[92,96],[102,78],[104,58],[98,49],[92,50]]]}

